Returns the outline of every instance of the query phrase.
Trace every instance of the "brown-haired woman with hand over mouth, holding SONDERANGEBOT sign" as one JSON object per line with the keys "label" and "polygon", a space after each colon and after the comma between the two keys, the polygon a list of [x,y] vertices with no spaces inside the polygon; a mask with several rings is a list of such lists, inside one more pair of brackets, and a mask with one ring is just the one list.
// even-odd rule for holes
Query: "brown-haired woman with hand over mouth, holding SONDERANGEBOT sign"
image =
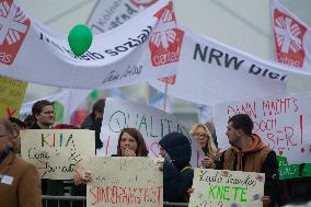
{"label": "brown-haired woman with hand over mouth, holding SONDERANGEBOT sign", "polygon": [[[136,128],[124,128],[118,137],[117,154],[112,157],[148,157],[147,146],[142,135]],[[87,184],[92,181],[92,173],[87,171],[84,176],[74,172],[76,185]]]}

